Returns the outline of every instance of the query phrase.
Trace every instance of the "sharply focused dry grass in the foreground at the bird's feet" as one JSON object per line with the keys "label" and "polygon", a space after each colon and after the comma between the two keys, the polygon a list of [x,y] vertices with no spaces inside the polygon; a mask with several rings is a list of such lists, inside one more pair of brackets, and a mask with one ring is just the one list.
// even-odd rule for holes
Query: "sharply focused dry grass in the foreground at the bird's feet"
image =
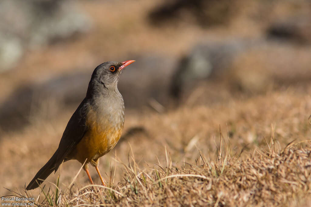
{"label": "sharply focused dry grass in the foreground at the bird's feet", "polygon": [[[273,140],[268,151],[255,149],[241,159],[222,147],[215,161],[200,153],[196,164],[173,166],[166,162],[140,169],[134,154],[123,165],[123,179],[108,187],[87,185],[60,189],[59,199],[37,205],[59,206],[281,206],[304,204],[311,187],[311,141],[291,142],[284,149]],[[232,150],[232,149],[230,149]],[[117,160],[116,160],[117,161]],[[114,169],[115,172],[115,169]],[[69,189],[69,190],[68,190]],[[19,194],[19,193],[18,193]],[[29,192],[20,196],[30,197]],[[41,193],[41,196],[42,193]],[[51,200],[55,200],[51,195]],[[39,197],[38,197],[38,200]],[[307,205],[307,204],[305,204]]]}

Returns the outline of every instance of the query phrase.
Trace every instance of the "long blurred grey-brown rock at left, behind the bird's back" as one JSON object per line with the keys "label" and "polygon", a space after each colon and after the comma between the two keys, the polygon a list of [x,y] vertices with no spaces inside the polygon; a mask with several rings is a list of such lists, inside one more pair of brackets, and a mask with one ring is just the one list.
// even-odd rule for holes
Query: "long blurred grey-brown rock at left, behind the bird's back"
{"label": "long blurred grey-brown rock at left, behind the bird's back", "polygon": [[49,119],[63,106],[80,102],[89,80],[90,74],[80,73],[20,86],[0,105],[0,131],[21,129],[33,118]]}

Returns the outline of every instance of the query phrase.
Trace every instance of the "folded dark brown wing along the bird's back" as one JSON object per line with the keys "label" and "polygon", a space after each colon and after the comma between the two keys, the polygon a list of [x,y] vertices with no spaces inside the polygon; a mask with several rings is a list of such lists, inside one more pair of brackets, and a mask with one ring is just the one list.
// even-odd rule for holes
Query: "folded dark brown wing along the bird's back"
{"label": "folded dark brown wing along the bird's back", "polygon": [[88,107],[90,107],[90,104],[87,99],[84,98],[77,110],[69,119],[57,149],[58,155],[55,172],[66,156],[70,154],[72,149],[81,141],[82,137],[86,133],[86,111]]}

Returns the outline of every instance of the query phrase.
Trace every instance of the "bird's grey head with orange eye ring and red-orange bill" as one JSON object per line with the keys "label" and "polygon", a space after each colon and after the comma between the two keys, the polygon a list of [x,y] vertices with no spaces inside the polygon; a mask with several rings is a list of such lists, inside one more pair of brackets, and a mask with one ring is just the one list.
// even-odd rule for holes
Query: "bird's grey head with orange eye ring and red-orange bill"
{"label": "bird's grey head with orange eye ring and red-orange bill", "polygon": [[104,62],[98,65],[93,71],[86,97],[97,96],[101,93],[106,93],[107,90],[118,90],[117,85],[121,72],[126,66],[133,62],[135,61]]}

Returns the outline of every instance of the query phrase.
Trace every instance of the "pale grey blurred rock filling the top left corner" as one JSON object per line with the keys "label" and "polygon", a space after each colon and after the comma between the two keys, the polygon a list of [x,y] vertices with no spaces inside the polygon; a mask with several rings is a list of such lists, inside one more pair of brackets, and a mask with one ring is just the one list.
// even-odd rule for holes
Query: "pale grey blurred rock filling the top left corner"
{"label": "pale grey blurred rock filling the top left corner", "polygon": [[28,50],[90,29],[72,1],[0,1],[0,72]]}

